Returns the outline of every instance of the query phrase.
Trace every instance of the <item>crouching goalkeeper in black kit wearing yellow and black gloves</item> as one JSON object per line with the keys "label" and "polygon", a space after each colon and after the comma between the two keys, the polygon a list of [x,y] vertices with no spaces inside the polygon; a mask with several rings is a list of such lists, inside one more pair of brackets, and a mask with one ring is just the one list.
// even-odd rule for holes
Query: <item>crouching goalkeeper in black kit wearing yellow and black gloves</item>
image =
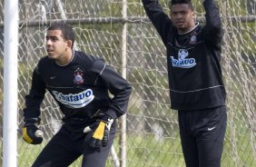
{"label": "crouching goalkeeper in black kit wearing yellow and black gloves", "polygon": [[[34,69],[25,96],[23,138],[39,144],[40,105],[45,90],[64,113],[63,126],[35,160],[34,167],[65,167],[83,156],[82,166],[104,166],[113,144],[115,120],[126,112],[131,85],[102,59],[74,51],[74,30],[55,23],[47,29],[46,51]],[[113,94],[113,98],[109,96]]]}

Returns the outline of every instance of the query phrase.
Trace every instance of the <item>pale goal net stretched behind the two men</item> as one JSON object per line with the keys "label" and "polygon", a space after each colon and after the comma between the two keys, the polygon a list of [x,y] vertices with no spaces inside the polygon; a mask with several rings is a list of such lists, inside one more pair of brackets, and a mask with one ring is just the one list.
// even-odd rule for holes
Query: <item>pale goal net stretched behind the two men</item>
{"label": "pale goal net stretched behind the two men", "polygon": [[[198,21],[203,23],[201,1],[192,2]],[[222,71],[228,108],[222,166],[256,166],[256,2],[216,0],[216,3],[225,33]],[[168,1],[160,0],[160,4],[169,13]],[[0,8],[0,127],[3,129],[3,1]],[[133,86],[126,119],[118,120],[106,166],[184,166],[177,112],[170,109],[165,48],[145,15],[141,0],[20,0],[19,17],[19,128],[23,125],[22,110],[32,72],[46,54],[46,28],[54,21],[64,20],[74,27],[75,49],[102,57]],[[41,111],[44,143],[27,144],[18,131],[19,167],[32,165],[62,123],[63,114],[49,93]],[[0,142],[2,149],[2,131]],[[71,166],[80,164],[81,158]]]}

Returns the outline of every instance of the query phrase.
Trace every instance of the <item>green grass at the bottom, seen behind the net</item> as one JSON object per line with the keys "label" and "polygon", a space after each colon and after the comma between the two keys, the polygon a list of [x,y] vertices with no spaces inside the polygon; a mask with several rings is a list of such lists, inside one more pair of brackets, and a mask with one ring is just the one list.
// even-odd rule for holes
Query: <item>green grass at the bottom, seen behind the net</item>
{"label": "green grass at the bottom, seen behind the net", "polygon": [[[222,167],[230,166],[256,166],[255,155],[251,149],[251,138],[247,133],[242,133],[234,141],[230,140],[231,130],[227,129],[222,154]],[[182,148],[179,138],[164,138],[161,141],[155,140],[153,134],[137,135],[130,133],[127,135],[127,167],[184,167],[182,157]],[[114,146],[118,153],[118,136],[115,139]],[[44,143],[45,144],[45,143]],[[18,166],[27,167],[34,162],[34,159],[44,147],[43,145],[34,146],[19,141]],[[80,157],[70,167],[79,167],[81,165]],[[114,167],[112,158],[109,157],[106,167]]]}

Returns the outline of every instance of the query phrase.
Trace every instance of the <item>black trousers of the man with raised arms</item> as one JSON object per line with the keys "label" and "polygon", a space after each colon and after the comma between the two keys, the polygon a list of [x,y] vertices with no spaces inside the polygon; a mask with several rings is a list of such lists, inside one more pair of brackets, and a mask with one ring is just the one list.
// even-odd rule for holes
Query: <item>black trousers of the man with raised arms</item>
{"label": "black trousers of the man with raised arms", "polygon": [[179,111],[182,151],[187,167],[220,167],[226,107]]}

